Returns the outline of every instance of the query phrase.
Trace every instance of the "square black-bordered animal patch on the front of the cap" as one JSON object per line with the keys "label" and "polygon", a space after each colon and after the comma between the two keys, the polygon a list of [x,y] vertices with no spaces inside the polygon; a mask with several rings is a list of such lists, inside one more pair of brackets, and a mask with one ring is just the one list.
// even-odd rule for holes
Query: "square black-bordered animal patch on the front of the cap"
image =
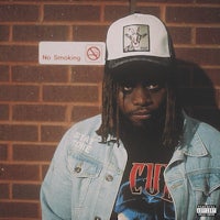
{"label": "square black-bordered animal patch on the front of the cap", "polygon": [[150,30],[145,24],[132,24],[123,28],[123,52],[148,52]]}

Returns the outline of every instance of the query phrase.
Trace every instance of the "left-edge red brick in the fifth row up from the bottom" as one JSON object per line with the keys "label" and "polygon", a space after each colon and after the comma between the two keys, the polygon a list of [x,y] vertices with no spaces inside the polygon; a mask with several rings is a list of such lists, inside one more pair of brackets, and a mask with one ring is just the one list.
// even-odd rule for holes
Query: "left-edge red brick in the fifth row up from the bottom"
{"label": "left-edge red brick in the fifth row up from the bottom", "polygon": [[35,125],[0,124],[1,141],[37,141],[37,128]]}

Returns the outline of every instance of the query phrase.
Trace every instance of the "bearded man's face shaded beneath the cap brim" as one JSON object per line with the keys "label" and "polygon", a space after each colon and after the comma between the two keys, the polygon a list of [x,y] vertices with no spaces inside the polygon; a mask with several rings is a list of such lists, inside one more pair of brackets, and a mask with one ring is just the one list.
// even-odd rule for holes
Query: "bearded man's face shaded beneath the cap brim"
{"label": "bearded man's face shaded beneath the cap brim", "polygon": [[166,91],[165,81],[158,77],[128,76],[125,80],[120,81],[120,112],[135,127],[155,123],[161,114],[164,116],[162,111],[165,107]]}

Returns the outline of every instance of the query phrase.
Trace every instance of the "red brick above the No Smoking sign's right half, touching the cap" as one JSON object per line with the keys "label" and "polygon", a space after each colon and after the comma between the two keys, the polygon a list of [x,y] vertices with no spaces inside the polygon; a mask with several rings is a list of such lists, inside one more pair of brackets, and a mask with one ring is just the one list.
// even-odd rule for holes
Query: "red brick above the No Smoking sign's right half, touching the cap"
{"label": "red brick above the No Smoking sign's right half, touching the cap", "polygon": [[74,41],[105,42],[107,26],[102,25],[77,25],[74,26]]}

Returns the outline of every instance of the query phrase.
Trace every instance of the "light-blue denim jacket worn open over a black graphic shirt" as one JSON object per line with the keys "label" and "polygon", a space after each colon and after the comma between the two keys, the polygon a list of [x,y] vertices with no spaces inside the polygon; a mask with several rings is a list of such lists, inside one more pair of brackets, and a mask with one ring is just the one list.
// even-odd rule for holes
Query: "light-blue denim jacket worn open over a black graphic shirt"
{"label": "light-blue denim jacket worn open over a black graphic shirt", "polygon": [[[164,172],[176,220],[199,219],[198,205],[220,211],[220,132],[185,117],[184,139]],[[63,136],[41,187],[43,220],[110,219],[128,154],[121,142],[101,142],[100,122],[87,119]]]}

